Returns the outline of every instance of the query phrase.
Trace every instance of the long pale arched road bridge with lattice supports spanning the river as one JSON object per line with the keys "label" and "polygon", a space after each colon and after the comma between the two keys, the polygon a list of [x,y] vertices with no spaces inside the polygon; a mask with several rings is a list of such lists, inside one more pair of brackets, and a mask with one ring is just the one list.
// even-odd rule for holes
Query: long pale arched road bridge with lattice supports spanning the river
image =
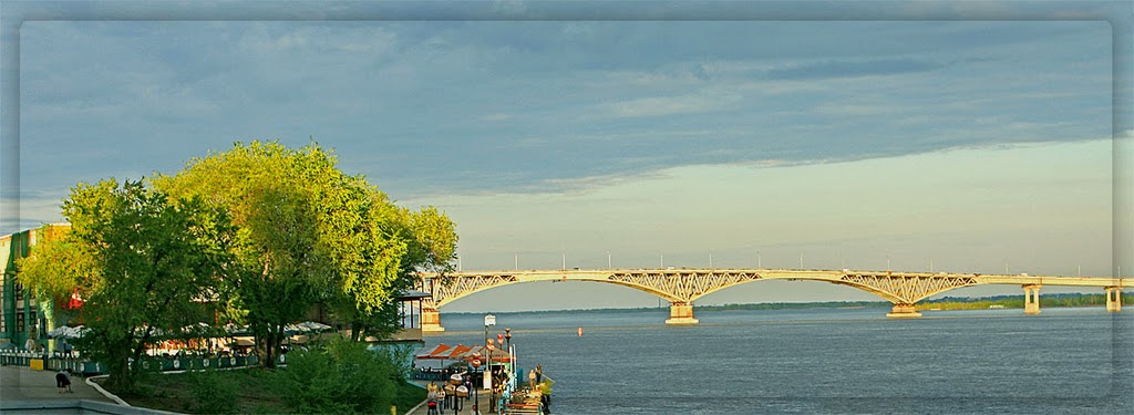
{"label": "long pale arched road bridge with lattice supports spanning the river", "polygon": [[696,324],[693,302],[711,293],[761,280],[826,281],[865,290],[894,303],[889,317],[919,317],[914,304],[962,287],[1016,285],[1024,289],[1024,313],[1040,313],[1040,287],[1099,287],[1107,294],[1107,311],[1122,307],[1122,289],[1134,278],[1008,276],[947,272],[786,269],[617,269],[555,271],[464,271],[423,273],[420,287],[431,298],[422,302],[422,330],[445,331],[439,310],[462,297],[494,287],[535,281],[595,281],[643,290],[669,302],[667,324]]}

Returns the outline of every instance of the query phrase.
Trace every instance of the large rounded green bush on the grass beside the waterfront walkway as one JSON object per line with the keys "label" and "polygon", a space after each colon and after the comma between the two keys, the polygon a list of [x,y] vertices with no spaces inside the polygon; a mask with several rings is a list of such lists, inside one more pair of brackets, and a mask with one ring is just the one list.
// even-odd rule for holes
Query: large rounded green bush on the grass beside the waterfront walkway
{"label": "large rounded green bush on the grass beside the waterfront walkway", "polygon": [[393,364],[350,340],[293,350],[277,373],[281,397],[298,413],[384,413],[397,393]]}

